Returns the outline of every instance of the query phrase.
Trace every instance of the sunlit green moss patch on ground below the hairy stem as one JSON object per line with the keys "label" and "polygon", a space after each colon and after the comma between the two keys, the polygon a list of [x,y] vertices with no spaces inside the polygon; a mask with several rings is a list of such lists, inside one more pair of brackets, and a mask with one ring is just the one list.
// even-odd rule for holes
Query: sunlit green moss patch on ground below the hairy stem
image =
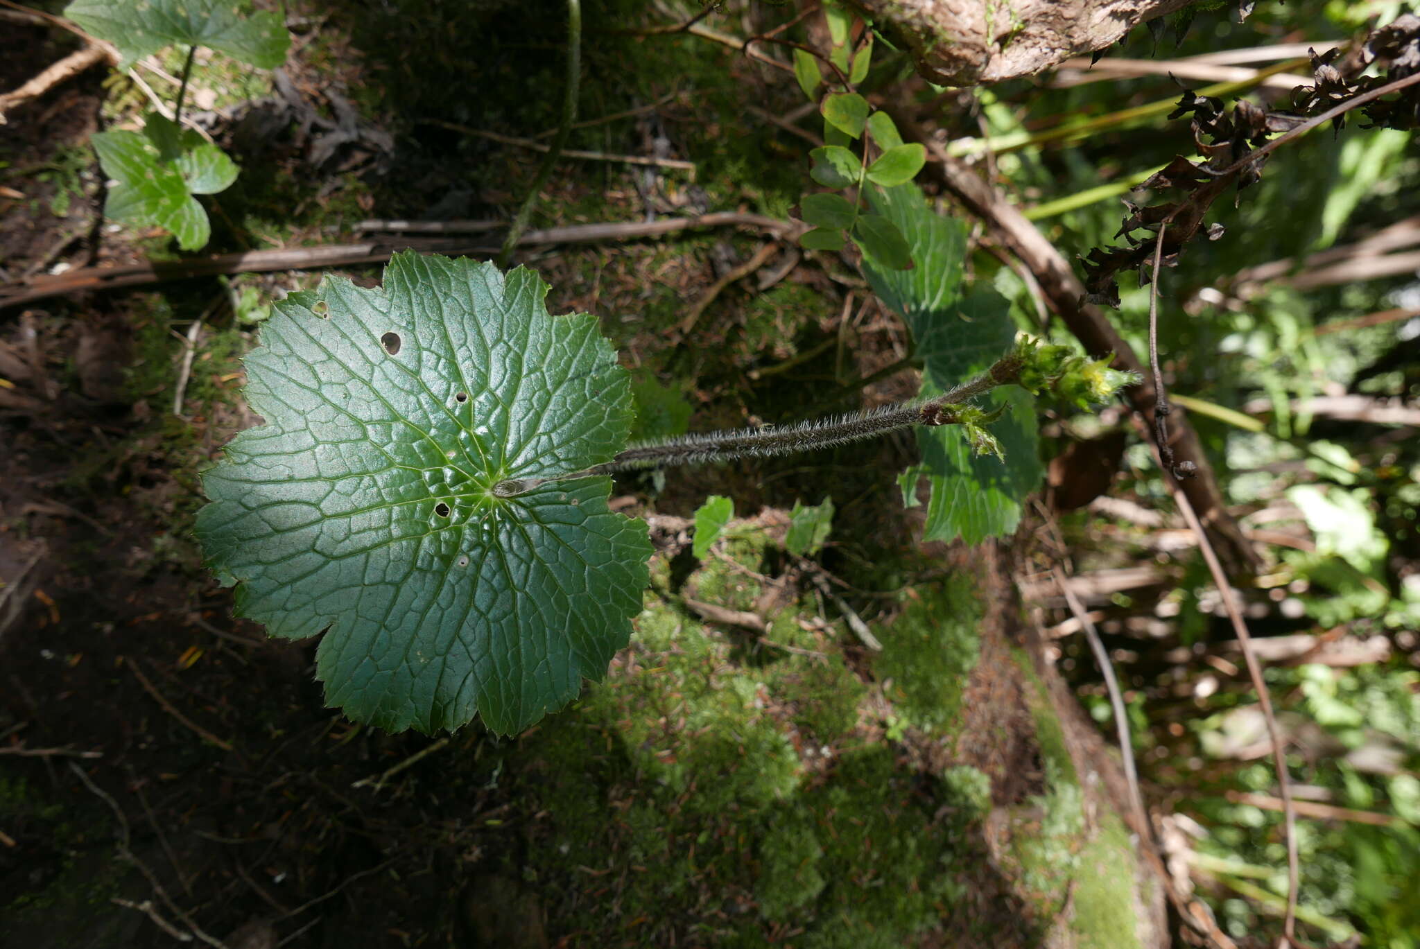
{"label": "sunlit green moss patch on ground below the hairy stem", "polygon": [[[720,546],[740,568],[707,558],[684,590],[747,609],[777,550],[740,521]],[[858,729],[870,690],[839,636],[855,641],[798,622],[815,611],[804,597],[771,622],[764,638],[792,651],[747,646],[649,592],[608,679],[523,742],[527,859],[554,932],[897,948],[949,915],[980,788],[924,780]]]}

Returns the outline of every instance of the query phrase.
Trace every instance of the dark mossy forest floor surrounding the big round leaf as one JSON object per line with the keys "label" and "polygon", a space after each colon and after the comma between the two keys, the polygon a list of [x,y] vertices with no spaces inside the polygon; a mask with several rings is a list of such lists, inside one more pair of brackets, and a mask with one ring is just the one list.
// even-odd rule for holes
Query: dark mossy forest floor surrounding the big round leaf
{"label": "dark mossy forest floor surrounding the big round leaf", "polygon": [[[297,92],[274,104],[220,61],[199,63],[193,84],[219,109],[212,129],[244,168],[212,203],[209,250],[342,240],[368,216],[498,215],[518,193],[535,153],[477,139],[470,153],[446,131],[385,126],[390,112],[376,105],[409,115],[409,99],[422,108],[439,98],[437,75],[405,90],[403,102],[359,98],[362,85],[413,68],[408,50],[382,60],[398,40],[356,48],[388,26],[373,18],[351,34],[301,36],[287,67]],[[28,33],[26,54],[0,67],[0,87],[67,48],[64,37]],[[476,78],[521,55],[507,38],[515,33],[504,31],[504,60]],[[709,99],[693,102],[684,77],[650,72],[636,95],[649,92],[630,104],[640,112],[616,125],[618,139],[630,124],[662,151],[699,149],[706,170],[690,180],[569,165],[537,226],[687,207],[785,215],[801,143],[768,124],[741,131],[741,84],[763,84],[763,70],[710,51],[694,60],[700,78],[720,72]],[[657,54],[666,77],[673,55]],[[596,70],[616,51],[591,58]],[[484,92],[494,104],[511,98]],[[767,94],[792,104],[792,90]],[[135,97],[95,70],[0,129],[14,189],[0,199],[10,277],[170,253],[162,234],[99,215],[88,136]],[[320,161],[318,142],[285,125],[251,132],[263,108],[328,115],[346,97],[362,108],[359,134]],[[460,118],[521,135],[547,118],[542,102],[525,105],[504,125],[491,105]],[[723,135],[706,134],[706,122],[726,122]],[[470,176],[470,161],[491,165]],[[751,274],[753,291],[731,284],[710,300],[761,244],[726,230],[528,261],[554,287],[552,313],[602,318],[653,418],[699,429],[802,416],[824,408],[825,386],[846,395],[845,408],[856,403],[858,381],[902,357],[899,324],[856,274],[801,267],[790,247]],[[379,269],[346,273],[369,284]],[[622,510],[659,517],[659,580],[636,645],[606,685],[514,740],[477,726],[437,740],[389,736],[324,709],[314,642],[267,639],[234,619],[230,591],[202,568],[190,537],[200,470],[257,422],[240,399],[240,357],[263,307],[315,278],[285,271],[54,298],[0,324],[0,940],[957,945],[974,932],[1032,945],[1045,916],[1027,911],[1030,895],[1010,892],[987,858],[978,820],[991,791],[977,779],[994,773],[1008,801],[1048,794],[1041,752],[1022,746],[1015,760],[977,760],[985,771],[963,764],[957,784],[940,780],[943,761],[960,757],[958,732],[943,723],[957,717],[963,690],[987,696],[994,678],[1020,675],[1018,659],[977,665],[973,594],[943,580],[941,550],[910,540],[890,477],[910,459],[902,442],[619,486]],[[683,327],[697,301],[701,318]],[[848,335],[841,313],[853,315]],[[889,375],[869,399],[910,386],[910,375]],[[716,561],[697,565],[683,519],[711,492],[750,517]],[[875,671],[784,553],[782,511],[829,496],[838,513],[822,577],[879,638],[936,651],[946,666]],[[690,594],[767,612],[770,634],[706,624],[686,608]],[[687,634],[693,649],[679,645]],[[977,702],[978,717],[987,707]],[[1024,705],[1004,715],[1030,716]]]}

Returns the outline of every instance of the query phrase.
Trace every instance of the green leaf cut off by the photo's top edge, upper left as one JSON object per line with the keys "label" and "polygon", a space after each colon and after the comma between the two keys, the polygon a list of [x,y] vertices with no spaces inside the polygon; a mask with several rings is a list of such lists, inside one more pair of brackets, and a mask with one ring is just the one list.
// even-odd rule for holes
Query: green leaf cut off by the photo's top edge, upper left
{"label": "green leaf cut off by the photo's top edge, upper left", "polygon": [[121,70],[175,44],[212,47],[274,70],[291,44],[278,14],[233,0],[77,0],[64,16],[116,45]]}

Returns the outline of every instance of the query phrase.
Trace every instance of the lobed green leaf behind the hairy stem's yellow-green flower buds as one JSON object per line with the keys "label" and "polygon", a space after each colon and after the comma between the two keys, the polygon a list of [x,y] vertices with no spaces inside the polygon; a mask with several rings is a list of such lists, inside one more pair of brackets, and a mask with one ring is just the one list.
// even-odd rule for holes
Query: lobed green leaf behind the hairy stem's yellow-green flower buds
{"label": "lobed green leaf behind the hairy stem's yellow-green flower buds", "polygon": [[[869,189],[873,209],[893,222],[912,249],[912,270],[888,270],[863,259],[873,291],[900,313],[924,364],[923,396],[939,395],[985,369],[1010,351],[1015,327],[1010,304],[994,291],[961,297],[966,227],[933,212],[916,185]],[[922,463],[899,479],[903,503],[917,503],[917,483],[926,477],[926,540],[961,537],[977,543],[1015,530],[1021,501],[1039,484],[1044,470],[1037,453],[1034,399],[1024,391],[998,389],[991,405],[1008,403],[991,432],[1005,449],[1005,460],[977,456],[956,425],[917,429]]]}

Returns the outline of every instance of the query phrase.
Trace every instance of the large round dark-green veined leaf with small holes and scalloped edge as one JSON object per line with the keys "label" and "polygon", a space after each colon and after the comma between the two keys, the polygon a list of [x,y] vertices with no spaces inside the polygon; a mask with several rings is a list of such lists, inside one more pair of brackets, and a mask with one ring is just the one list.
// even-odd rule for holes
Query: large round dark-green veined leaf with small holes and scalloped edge
{"label": "large round dark-green veined leaf with small holes and scalloped edge", "polygon": [[396,254],[383,288],[328,277],[275,304],[246,359],[266,425],[203,476],[196,534],[240,615],[325,632],[317,676],[355,720],[511,734],[629,638],[650,546],[609,480],[493,493],[611,459],[630,423],[596,321],[548,315],[545,293]]}

